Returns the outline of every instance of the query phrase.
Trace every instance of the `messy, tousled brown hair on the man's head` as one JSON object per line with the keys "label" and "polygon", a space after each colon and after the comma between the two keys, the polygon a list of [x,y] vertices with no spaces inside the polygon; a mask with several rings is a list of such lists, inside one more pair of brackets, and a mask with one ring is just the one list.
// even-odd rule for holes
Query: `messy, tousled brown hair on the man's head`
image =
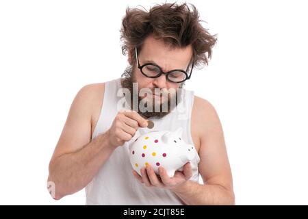
{"label": "messy, tousled brown hair on the man's head", "polygon": [[192,45],[192,63],[204,66],[211,58],[211,49],[216,44],[216,35],[211,36],[201,25],[196,7],[187,3],[177,5],[164,3],[145,9],[127,8],[120,29],[123,55],[131,53],[135,62],[134,49],[140,51],[147,36],[163,39],[171,49]]}

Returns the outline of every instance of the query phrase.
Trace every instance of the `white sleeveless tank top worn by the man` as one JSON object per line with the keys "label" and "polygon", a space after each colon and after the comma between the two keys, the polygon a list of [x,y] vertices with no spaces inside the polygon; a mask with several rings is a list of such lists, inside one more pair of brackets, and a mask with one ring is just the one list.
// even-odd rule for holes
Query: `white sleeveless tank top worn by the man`
{"label": "white sleeveless tank top worn by the man", "polygon": [[[117,96],[122,88],[120,79],[105,83],[105,94],[101,114],[94,129],[92,140],[99,134],[110,129],[112,122],[120,110],[117,105],[123,96]],[[183,89],[182,101],[163,118],[151,118],[155,126],[153,129],[140,128],[140,134],[149,131],[170,130],[183,128],[183,140],[194,145],[190,133],[190,118],[194,92]],[[126,107],[128,109],[128,107]],[[124,109],[124,108],[123,108]],[[133,140],[133,139],[132,139]],[[101,166],[97,175],[86,186],[86,205],[183,205],[183,201],[168,189],[148,188],[140,183],[132,173],[133,168],[129,162],[129,142],[118,146],[109,159]],[[198,182],[197,155],[191,162],[193,175],[190,180]]]}

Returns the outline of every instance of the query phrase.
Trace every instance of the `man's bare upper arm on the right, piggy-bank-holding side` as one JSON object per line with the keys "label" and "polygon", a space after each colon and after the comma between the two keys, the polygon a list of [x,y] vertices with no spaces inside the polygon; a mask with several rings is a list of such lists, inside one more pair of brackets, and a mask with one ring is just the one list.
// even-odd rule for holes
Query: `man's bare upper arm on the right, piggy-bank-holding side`
{"label": "man's bare upper arm on the right, piggy-bank-holding side", "polygon": [[204,99],[196,97],[194,103],[194,120],[200,139],[198,168],[201,177],[205,183],[221,185],[233,191],[231,168],[218,114],[213,105]]}

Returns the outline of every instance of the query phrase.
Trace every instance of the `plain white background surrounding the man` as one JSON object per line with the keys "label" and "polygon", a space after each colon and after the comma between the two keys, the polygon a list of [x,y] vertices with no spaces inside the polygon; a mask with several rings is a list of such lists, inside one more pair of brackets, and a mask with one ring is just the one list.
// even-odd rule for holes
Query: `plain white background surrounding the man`
{"label": "plain white background surrounding the man", "polygon": [[[220,116],[236,203],[307,205],[306,1],[189,2],[218,44],[185,88]],[[0,204],[84,205],[49,196],[49,159],[77,91],[127,66],[125,8],[153,3],[0,1]]]}

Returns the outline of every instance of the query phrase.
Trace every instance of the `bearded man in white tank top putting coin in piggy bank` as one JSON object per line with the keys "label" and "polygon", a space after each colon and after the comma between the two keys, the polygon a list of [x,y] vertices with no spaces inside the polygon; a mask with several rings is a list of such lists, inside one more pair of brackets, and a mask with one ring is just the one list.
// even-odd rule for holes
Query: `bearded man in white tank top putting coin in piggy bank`
{"label": "bearded man in white tank top putting coin in piggy bank", "polygon": [[[216,38],[201,26],[196,8],[165,3],[149,12],[127,9],[121,39],[130,64],[122,79],[81,88],[70,107],[49,165],[54,198],[86,187],[88,205],[234,204],[231,168],[214,107],[193,92],[186,91],[185,97],[156,94],[157,88],[181,89],[192,79],[193,66],[207,64],[211,57]],[[138,103],[168,103],[168,110],[144,112],[138,104],[134,109],[133,95],[125,95],[128,108],[118,107],[121,88],[147,88],[153,93],[137,96]],[[184,118],[179,107],[185,109]],[[129,162],[128,144],[137,133],[151,131],[149,120],[155,124],[152,130],[182,127],[183,140],[198,153],[172,178],[163,166],[156,175],[150,165],[140,166],[140,176]]]}

